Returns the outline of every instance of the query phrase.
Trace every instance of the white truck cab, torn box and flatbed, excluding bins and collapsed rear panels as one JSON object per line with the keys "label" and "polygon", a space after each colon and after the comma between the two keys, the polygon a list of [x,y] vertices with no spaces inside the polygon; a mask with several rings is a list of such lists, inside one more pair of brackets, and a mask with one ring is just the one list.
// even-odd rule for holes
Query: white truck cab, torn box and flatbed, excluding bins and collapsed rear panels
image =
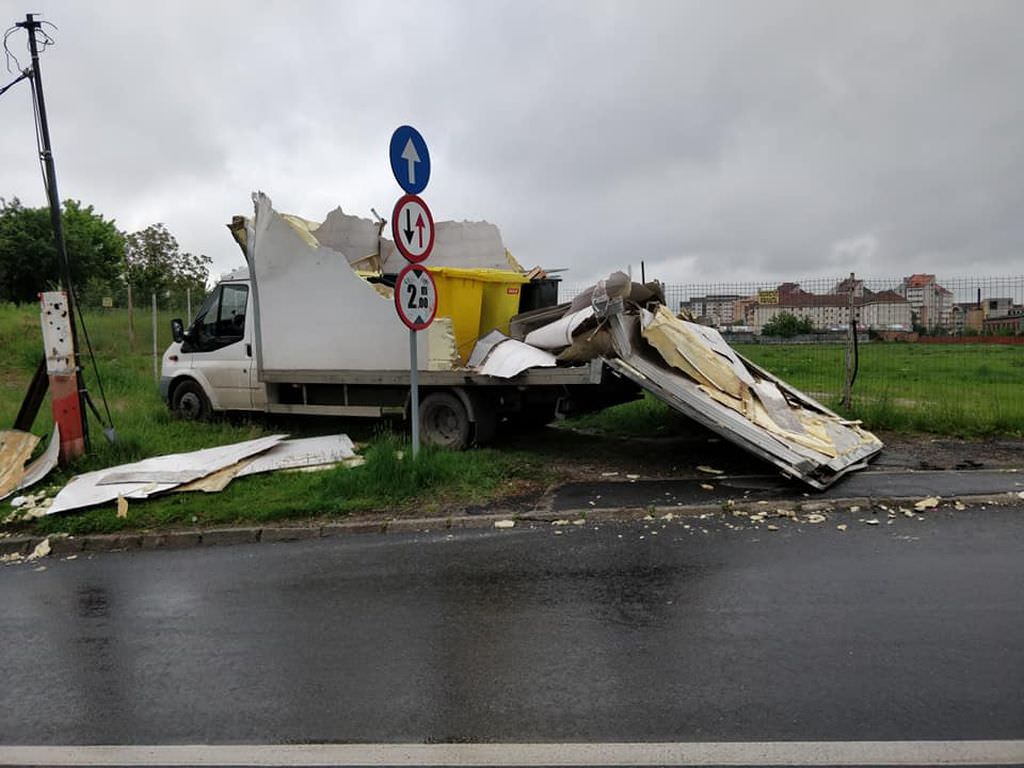
{"label": "white truck cab, torn box and flatbed, excluding bins and collapsed rear panels", "polygon": [[[396,272],[390,242],[379,239],[374,222],[340,209],[316,224],[279,214],[264,195],[254,195],[254,203],[255,217],[237,218],[232,229],[249,266],[221,279],[187,329],[172,322],[174,341],[164,353],[160,380],[164,400],[183,419],[228,411],[407,416],[409,331],[387,298],[389,289],[357,269],[369,258],[376,266],[370,280],[387,268]],[[482,228],[487,234],[487,227],[497,237],[490,225],[438,224],[440,258],[431,261],[449,266],[505,261],[508,268],[504,247],[495,253],[496,238],[471,239],[476,260],[463,253],[467,232]],[[446,241],[449,230],[455,234]],[[483,262],[481,250],[489,252]],[[530,369],[514,380],[474,373],[453,348],[449,318],[438,317],[417,341],[420,432],[436,445],[483,444],[502,420],[540,425],[640,393],[597,359]]]}

